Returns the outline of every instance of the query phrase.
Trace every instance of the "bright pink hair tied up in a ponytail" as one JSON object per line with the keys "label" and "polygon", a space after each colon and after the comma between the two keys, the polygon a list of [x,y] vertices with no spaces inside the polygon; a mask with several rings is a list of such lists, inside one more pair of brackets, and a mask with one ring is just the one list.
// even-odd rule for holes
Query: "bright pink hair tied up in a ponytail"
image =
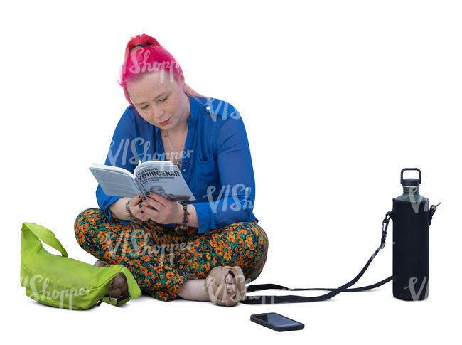
{"label": "bright pink hair tied up in a ponytail", "polygon": [[[148,46],[134,49],[135,46],[143,43],[146,43]],[[124,88],[125,98],[130,105],[133,105],[133,103],[127,92],[127,82],[138,80],[144,73],[160,70],[159,65],[162,66],[166,75],[173,75],[176,83],[181,83],[180,77],[183,75],[183,70],[181,70],[180,65],[171,53],[166,48],[163,48],[155,38],[143,33],[130,39],[125,48],[124,64],[122,65],[121,78],[118,82]],[[188,84],[186,84],[185,92],[188,95],[205,97],[191,89]]]}

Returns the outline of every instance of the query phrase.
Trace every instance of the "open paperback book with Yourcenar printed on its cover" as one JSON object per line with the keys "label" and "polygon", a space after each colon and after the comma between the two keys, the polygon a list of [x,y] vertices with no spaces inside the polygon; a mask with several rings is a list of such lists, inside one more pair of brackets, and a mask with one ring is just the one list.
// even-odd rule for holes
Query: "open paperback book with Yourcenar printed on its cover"
{"label": "open paperback book with Yourcenar printed on its cover", "polygon": [[136,166],[134,174],[119,166],[97,163],[89,169],[109,196],[132,198],[136,194],[146,196],[149,191],[172,201],[195,200],[180,169],[171,161],[145,161]]}

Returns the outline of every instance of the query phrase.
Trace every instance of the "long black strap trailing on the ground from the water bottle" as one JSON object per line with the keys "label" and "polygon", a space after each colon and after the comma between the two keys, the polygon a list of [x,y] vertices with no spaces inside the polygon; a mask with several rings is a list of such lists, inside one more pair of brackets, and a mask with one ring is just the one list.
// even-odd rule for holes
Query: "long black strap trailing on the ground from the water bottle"
{"label": "long black strap trailing on the ground from the water bottle", "polygon": [[[242,304],[281,304],[281,303],[303,303],[303,302],[318,302],[318,301],[325,301],[326,299],[330,299],[334,297],[337,294],[340,294],[340,292],[355,292],[355,291],[364,291],[364,290],[369,290],[374,287],[379,287],[380,285],[384,285],[386,282],[390,282],[390,280],[393,279],[393,276],[387,277],[384,280],[381,280],[380,282],[377,282],[372,285],[367,285],[365,287],[356,287],[353,289],[348,289],[351,285],[355,284],[360,277],[364,274],[364,272],[367,270],[367,267],[369,267],[370,263],[372,260],[374,260],[375,256],[381,249],[385,247],[385,240],[387,238],[387,228],[388,228],[388,223],[390,221],[390,217],[392,216],[392,212],[387,212],[385,215],[385,219],[382,221],[382,239],[380,240],[380,246],[377,248],[372,254],[372,256],[367,260],[367,263],[364,267],[362,267],[362,270],[358,273],[356,277],[353,278],[353,280],[350,280],[350,282],[347,282],[346,284],[337,287],[336,289],[331,289],[331,288],[325,288],[325,287],[311,287],[311,288],[306,288],[306,289],[291,289],[289,287],[284,287],[281,285],[276,285],[276,284],[259,284],[259,285],[249,285],[246,288],[247,292],[254,292],[254,291],[259,291],[259,290],[267,290],[267,289],[281,289],[281,290],[291,290],[291,291],[303,291],[303,290],[331,290],[331,292],[328,292],[327,294],[322,294],[321,296],[313,296],[313,297],[308,297],[308,296],[296,296],[293,294],[289,294],[286,296],[247,296],[245,300],[240,301]],[[267,298],[270,299],[267,301]]]}

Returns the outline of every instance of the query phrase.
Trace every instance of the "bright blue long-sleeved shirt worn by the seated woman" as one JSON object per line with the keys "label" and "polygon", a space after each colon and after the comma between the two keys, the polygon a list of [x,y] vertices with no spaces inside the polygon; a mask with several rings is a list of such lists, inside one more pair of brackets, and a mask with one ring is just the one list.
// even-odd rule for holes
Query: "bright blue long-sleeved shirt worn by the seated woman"
{"label": "bright blue long-sleeved shirt worn by the seated woman", "polygon": [[[238,221],[254,221],[255,179],[249,142],[240,113],[223,100],[190,99],[188,134],[183,150],[181,174],[195,196],[198,233],[221,228]],[[133,173],[141,161],[165,161],[161,131],[146,122],[130,105],[119,120],[104,164],[119,166]],[[96,189],[100,208],[121,196],[107,196]],[[124,225],[130,221],[119,220]],[[163,224],[175,227],[175,224]]]}

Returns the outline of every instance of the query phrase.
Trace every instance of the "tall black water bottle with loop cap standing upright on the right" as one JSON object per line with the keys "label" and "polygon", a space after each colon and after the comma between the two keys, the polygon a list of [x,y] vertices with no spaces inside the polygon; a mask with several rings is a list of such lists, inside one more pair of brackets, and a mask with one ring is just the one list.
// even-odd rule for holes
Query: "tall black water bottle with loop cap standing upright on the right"
{"label": "tall black water bottle with loop cap standing upright on the right", "polygon": [[[404,171],[419,179],[403,179]],[[429,199],[419,195],[421,171],[401,171],[402,196],[393,198],[393,296],[419,301],[429,295]],[[433,206],[432,206],[433,207]]]}

